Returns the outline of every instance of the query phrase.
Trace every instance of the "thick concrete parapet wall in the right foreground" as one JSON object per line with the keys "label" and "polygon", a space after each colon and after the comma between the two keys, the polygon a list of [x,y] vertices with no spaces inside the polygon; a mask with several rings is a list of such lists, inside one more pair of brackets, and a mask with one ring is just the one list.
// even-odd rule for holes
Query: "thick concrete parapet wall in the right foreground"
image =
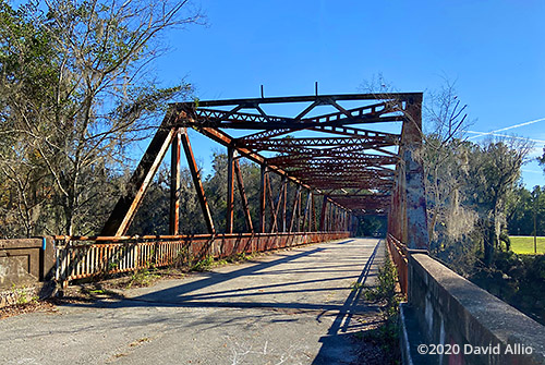
{"label": "thick concrete parapet wall in the right foreground", "polygon": [[545,364],[544,326],[429,256],[410,256],[408,294],[431,364]]}

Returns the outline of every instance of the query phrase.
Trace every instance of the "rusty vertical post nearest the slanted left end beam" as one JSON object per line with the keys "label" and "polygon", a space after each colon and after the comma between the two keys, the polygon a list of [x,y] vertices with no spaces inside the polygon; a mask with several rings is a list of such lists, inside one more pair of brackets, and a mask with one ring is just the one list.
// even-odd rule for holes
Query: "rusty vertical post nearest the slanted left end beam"
{"label": "rusty vertical post nearest the slanted left end beam", "polygon": [[180,149],[181,149],[180,130],[175,130],[172,145],[170,147],[170,219],[169,234],[180,233]]}

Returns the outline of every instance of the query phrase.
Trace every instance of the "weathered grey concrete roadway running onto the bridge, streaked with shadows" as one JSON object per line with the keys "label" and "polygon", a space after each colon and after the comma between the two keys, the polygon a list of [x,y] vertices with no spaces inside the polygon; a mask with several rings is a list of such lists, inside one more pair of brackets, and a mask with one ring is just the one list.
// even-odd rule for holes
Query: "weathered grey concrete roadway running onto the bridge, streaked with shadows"
{"label": "weathered grey concrete roadway running onto the bridge, streaked with shadows", "polygon": [[350,332],[368,311],[351,285],[373,281],[377,242],[299,247],[129,290],[123,301],[7,318],[0,363],[350,364]]}

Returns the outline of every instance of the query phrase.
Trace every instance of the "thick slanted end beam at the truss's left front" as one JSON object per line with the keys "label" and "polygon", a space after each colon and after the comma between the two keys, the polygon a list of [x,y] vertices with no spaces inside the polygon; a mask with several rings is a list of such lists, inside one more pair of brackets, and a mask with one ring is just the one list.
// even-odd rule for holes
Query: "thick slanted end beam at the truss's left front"
{"label": "thick slanted end beam at the truss's left front", "polygon": [[126,192],[113,208],[108,221],[105,223],[100,235],[124,235],[134,219],[136,210],[142,204],[142,199],[157,172],[168,147],[174,136],[174,130],[169,127],[169,112],[154,138],[149,143],[146,153],[142,157],[131,180],[126,184]]}

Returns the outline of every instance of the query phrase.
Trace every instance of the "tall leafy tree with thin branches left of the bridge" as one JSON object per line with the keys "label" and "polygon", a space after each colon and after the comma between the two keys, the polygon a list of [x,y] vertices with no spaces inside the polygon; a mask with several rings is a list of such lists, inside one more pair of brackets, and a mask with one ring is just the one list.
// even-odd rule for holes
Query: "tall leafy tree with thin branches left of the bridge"
{"label": "tall leafy tree with thin branches left of the bridge", "polygon": [[[47,229],[82,232],[97,219],[89,207],[104,191],[96,187],[147,136],[166,102],[191,93],[183,81],[158,87],[148,66],[165,51],[166,29],[202,14],[187,1],[52,0],[46,12],[0,1],[0,153],[9,161],[0,172],[21,210],[44,207],[35,191],[45,191]],[[25,199],[33,195],[37,202]]]}

